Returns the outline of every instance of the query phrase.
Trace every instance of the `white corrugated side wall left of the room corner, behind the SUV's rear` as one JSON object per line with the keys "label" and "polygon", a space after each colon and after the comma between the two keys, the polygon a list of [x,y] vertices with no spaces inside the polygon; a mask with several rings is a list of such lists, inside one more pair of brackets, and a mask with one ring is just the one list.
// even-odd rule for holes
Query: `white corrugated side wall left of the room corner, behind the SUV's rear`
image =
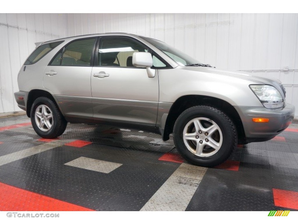
{"label": "white corrugated side wall left of the room corner, behind the SUV's rear", "polygon": [[13,93],[35,42],[67,36],[67,15],[0,13],[0,113],[20,111]]}

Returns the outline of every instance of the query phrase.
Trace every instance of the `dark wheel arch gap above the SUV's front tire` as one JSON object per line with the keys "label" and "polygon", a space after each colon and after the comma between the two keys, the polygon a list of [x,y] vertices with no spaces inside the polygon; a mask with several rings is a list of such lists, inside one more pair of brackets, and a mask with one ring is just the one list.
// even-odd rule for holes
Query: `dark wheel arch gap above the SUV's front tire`
{"label": "dark wheel arch gap above the SUV's front tire", "polygon": [[181,96],[173,103],[165,122],[162,139],[164,141],[169,139],[170,134],[173,133],[176,119],[183,111],[198,105],[214,107],[226,113],[237,128],[239,144],[244,144],[246,142],[243,123],[236,109],[223,99],[204,95]]}

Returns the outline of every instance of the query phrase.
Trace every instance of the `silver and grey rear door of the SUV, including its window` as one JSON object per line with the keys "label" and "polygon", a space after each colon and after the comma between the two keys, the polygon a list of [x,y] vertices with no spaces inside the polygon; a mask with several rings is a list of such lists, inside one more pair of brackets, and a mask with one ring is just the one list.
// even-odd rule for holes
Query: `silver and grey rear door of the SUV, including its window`
{"label": "silver and grey rear door of the SUV, including its window", "polygon": [[44,70],[44,87],[72,122],[93,120],[90,79],[96,42],[97,37],[70,42]]}

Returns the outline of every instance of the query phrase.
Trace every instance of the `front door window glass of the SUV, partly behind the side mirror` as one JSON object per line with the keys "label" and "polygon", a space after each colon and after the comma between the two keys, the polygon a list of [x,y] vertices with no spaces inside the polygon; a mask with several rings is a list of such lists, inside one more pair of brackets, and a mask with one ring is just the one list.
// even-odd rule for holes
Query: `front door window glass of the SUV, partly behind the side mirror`
{"label": "front door window glass of the SUV, partly behind the side mirror", "polygon": [[114,67],[134,67],[134,52],[148,52],[148,48],[128,38],[102,38],[98,49],[98,65]]}

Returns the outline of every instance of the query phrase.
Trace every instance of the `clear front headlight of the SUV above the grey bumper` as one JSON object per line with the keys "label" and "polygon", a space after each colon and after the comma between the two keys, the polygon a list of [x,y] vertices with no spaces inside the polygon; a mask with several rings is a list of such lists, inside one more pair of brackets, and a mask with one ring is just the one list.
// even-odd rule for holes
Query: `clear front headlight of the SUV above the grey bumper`
{"label": "clear front headlight of the SUV above the grey bumper", "polygon": [[283,96],[271,85],[249,85],[264,107],[276,109],[283,107]]}

